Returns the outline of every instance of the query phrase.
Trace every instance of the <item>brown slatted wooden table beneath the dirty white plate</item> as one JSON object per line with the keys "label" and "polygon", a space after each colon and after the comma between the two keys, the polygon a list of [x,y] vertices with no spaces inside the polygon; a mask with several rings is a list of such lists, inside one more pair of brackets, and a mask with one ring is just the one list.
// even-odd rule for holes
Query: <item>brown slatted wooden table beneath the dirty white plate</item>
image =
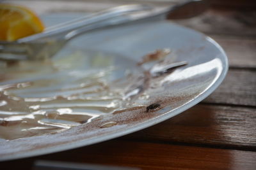
{"label": "brown slatted wooden table beneath the dirty white plate", "polygon": [[141,169],[256,169],[256,11],[211,8],[175,22],[202,31],[227,52],[230,69],[211,96],[142,131],[91,146],[1,162],[29,169],[60,160]]}

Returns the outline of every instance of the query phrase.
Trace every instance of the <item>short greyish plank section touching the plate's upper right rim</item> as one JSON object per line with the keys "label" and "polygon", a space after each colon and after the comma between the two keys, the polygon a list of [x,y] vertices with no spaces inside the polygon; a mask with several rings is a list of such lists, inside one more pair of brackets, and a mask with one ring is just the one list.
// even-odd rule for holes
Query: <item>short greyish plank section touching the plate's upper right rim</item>
{"label": "short greyish plank section touching the plate's upper right rim", "polygon": [[211,36],[225,50],[230,67],[256,68],[256,38]]}

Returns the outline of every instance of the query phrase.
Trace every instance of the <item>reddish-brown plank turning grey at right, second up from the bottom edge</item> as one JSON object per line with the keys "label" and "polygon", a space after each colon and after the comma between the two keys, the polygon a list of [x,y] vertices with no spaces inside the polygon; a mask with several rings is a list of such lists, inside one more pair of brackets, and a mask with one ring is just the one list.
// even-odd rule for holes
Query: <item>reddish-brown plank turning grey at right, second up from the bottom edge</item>
{"label": "reddish-brown plank turning grey at right, second up from the bottom edge", "polygon": [[256,108],[198,104],[123,138],[256,150]]}

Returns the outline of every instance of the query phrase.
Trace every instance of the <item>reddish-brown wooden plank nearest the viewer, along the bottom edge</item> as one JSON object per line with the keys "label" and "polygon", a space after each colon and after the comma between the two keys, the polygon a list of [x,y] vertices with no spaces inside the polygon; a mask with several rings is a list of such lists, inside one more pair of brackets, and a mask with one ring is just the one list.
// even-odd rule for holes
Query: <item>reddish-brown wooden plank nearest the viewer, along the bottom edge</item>
{"label": "reddish-brown wooden plank nearest the viewer, along the bottom edge", "polygon": [[[193,156],[192,156],[193,155]],[[111,140],[76,150],[3,162],[1,169],[28,167],[33,160],[140,167],[141,169],[255,169],[256,152]]]}

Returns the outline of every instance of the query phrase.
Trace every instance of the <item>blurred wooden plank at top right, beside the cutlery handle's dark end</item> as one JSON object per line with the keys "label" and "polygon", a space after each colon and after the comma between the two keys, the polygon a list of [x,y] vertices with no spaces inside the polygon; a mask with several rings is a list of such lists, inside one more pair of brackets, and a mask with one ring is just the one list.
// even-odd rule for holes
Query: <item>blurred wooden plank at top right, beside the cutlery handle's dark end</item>
{"label": "blurred wooden plank at top right, beside the cutlery handle's dark end", "polygon": [[256,16],[249,10],[210,9],[198,17],[175,22],[208,35],[256,36]]}

